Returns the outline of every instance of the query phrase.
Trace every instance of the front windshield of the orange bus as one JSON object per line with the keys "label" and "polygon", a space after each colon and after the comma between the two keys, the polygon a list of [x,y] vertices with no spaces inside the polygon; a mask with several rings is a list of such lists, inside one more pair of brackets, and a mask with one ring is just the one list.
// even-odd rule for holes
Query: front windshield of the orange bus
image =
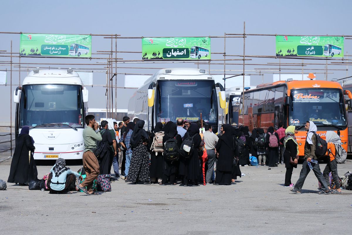
{"label": "front windshield of the orange bus", "polygon": [[292,106],[289,124],[301,126],[306,121],[329,126],[346,126],[344,96],[340,89],[295,89],[291,91]]}

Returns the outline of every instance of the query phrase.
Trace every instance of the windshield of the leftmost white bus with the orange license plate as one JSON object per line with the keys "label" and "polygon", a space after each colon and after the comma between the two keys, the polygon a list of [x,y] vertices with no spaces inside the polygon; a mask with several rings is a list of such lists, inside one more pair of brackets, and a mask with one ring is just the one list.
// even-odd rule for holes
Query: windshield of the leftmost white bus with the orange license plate
{"label": "windshield of the leftmost white bus with the orange license plate", "polygon": [[19,103],[19,126],[59,123],[83,128],[81,86],[24,85]]}

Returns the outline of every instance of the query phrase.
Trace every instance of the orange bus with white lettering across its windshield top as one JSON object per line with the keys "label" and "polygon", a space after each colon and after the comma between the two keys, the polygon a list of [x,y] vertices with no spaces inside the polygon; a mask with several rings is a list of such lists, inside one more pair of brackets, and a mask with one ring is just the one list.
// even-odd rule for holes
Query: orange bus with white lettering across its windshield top
{"label": "orange bus with white lettering across its windshield top", "polygon": [[[241,95],[239,124],[253,128],[269,126],[278,129],[279,122],[284,128],[297,126],[296,134],[299,145],[299,155],[304,155],[304,142],[307,132],[304,130],[306,121],[313,121],[317,134],[325,138],[326,131],[340,132],[342,146],[347,151],[348,130],[344,94],[342,87],[335,81],[277,81],[262,84],[256,89],[250,89]],[[244,115],[242,115],[242,110]],[[244,117],[244,118],[243,118]]]}

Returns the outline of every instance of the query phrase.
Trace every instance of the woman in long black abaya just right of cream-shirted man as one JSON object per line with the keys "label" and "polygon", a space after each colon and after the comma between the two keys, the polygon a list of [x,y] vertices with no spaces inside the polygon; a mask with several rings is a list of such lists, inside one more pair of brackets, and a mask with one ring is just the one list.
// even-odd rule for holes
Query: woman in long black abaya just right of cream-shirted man
{"label": "woman in long black abaya just right of cream-shirted man", "polygon": [[232,126],[224,124],[223,134],[219,137],[216,144],[216,152],[219,153],[218,164],[216,165],[215,185],[231,185],[232,163],[234,158],[234,136]]}

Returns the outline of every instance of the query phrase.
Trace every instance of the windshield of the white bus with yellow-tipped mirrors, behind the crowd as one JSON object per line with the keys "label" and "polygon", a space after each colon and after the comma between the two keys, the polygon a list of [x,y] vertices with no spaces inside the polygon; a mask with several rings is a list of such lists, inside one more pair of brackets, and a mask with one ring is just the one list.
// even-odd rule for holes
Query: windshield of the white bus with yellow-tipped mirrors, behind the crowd
{"label": "windshield of the white bus with yellow-tipped mirrors, behind the crowd", "polygon": [[176,122],[178,118],[195,122],[200,119],[210,125],[218,123],[218,105],[214,81],[158,81],[156,94],[157,122]]}

